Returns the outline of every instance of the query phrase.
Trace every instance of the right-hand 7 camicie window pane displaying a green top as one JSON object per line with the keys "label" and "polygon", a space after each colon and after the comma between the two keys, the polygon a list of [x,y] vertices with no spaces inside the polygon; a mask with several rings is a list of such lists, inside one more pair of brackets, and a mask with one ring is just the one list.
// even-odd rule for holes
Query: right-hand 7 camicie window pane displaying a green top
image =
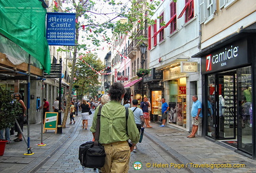
{"label": "right-hand 7 camicie window pane displaying a green top", "polygon": [[251,67],[238,69],[238,148],[252,153],[252,81]]}

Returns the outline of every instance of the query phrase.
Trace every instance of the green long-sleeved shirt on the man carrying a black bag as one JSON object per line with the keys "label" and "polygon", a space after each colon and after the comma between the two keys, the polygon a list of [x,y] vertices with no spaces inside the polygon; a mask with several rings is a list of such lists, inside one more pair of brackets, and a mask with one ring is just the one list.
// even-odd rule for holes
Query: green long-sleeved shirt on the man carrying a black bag
{"label": "green long-sleeved shirt on the man carrying a black bag", "polygon": [[[96,132],[98,109],[94,112],[91,132]],[[127,141],[130,139],[133,143],[139,141],[139,130],[137,130],[135,119],[132,110],[129,110],[127,119],[126,132],[126,110],[120,102],[110,101],[106,103],[101,109],[101,126],[100,126],[100,143],[114,143],[120,141]]]}

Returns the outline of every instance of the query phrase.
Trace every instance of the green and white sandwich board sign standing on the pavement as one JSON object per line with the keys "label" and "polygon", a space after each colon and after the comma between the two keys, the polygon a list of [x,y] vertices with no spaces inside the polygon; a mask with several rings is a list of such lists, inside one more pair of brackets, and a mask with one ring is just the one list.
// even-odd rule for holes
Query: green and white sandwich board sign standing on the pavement
{"label": "green and white sandwich board sign standing on the pavement", "polygon": [[46,130],[55,130],[55,133],[57,133],[57,117],[58,112],[45,113],[43,133],[46,132]]}

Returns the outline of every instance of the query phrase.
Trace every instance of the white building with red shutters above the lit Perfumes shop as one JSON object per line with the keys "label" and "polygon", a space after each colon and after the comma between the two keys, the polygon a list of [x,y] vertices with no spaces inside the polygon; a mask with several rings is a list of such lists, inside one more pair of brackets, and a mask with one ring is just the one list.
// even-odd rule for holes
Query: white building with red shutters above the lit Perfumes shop
{"label": "white building with red shutters above the lit Perfumes shop", "polygon": [[[149,67],[162,71],[159,86],[164,86],[157,94],[152,90],[152,107],[159,110],[164,97],[170,107],[169,125],[191,131],[191,97],[196,94],[201,100],[202,94],[200,59],[191,58],[199,50],[199,4],[163,1],[151,19],[155,19],[155,24],[148,27]],[[184,70],[185,66],[192,68]],[[160,111],[152,113],[157,115]],[[201,127],[198,134],[201,135]]]}

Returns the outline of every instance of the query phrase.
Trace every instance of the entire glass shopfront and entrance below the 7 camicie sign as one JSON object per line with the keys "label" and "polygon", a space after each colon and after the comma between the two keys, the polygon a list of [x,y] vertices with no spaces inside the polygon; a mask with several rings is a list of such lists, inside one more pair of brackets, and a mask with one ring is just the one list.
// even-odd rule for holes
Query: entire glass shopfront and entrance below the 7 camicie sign
{"label": "entire glass shopfront and entrance below the 7 camicie sign", "polygon": [[207,75],[207,136],[252,154],[251,66]]}

